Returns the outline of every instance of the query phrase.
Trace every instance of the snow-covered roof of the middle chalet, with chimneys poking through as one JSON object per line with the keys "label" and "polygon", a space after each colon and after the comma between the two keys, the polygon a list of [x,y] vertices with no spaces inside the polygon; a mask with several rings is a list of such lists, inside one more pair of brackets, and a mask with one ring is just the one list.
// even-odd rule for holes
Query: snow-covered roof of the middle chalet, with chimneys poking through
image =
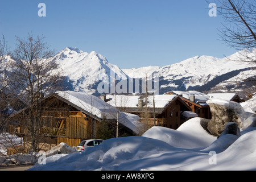
{"label": "snow-covered roof of the middle chalet, with chimneys poking through", "polygon": [[[138,107],[138,100],[140,96],[125,96],[125,95],[107,95],[110,101],[108,102],[112,106],[117,107]],[[155,107],[163,108],[170,104],[175,99],[175,95],[155,95]],[[146,101],[146,98],[144,98]],[[148,107],[153,107],[153,96],[148,96]]]}

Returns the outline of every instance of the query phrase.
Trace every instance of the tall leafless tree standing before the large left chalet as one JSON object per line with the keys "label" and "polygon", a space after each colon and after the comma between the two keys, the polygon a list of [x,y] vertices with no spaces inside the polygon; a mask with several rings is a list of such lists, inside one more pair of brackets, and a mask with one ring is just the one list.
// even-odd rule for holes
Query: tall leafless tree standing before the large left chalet
{"label": "tall leafless tree standing before the large left chalet", "polygon": [[17,44],[11,57],[15,69],[15,93],[27,105],[27,129],[31,137],[31,151],[38,151],[39,130],[42,122],[42,98],[55,92],[61,83],[59,65],[52,59],[53,51],[43,40],[43,36],[34,38],[16,37]]}

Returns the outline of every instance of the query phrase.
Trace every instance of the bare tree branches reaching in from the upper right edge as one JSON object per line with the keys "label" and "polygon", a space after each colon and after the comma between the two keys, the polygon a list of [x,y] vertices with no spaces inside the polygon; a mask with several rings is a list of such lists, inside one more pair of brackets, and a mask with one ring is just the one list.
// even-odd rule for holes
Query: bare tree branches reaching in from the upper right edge
{"label": "bare tree branches reaching in from the upper right edge", "polygon": [[217,0],[216,4],[218,13],[224,18],[222,27],[218,29],[220,38],[239,51],[237,57],[228,59],[251,67],[252,74],[241,82],[249,82],[249,92],[253,93],[256,85],[256,1]]}

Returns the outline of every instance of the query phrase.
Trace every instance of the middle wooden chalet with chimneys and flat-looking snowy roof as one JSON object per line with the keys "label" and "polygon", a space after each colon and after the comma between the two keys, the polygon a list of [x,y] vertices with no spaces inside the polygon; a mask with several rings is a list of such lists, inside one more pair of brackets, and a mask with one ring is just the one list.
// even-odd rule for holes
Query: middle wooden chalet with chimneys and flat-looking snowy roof
{"label": "middle wooden chalet with chimneys and flat-looking snowy roof", "polygon": [[138,115],[142,123],[147,122],[150,126],[177,129],[189,118],[197,116],[180,97],[174,95],[107,95],[106,102],[123,112]]}

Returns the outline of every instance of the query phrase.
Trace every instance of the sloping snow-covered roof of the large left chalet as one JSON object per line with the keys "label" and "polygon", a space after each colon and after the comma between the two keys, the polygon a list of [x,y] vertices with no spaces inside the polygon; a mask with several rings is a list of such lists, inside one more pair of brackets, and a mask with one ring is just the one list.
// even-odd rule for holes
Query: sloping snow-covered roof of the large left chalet
{"label": "sloping snow-covered roof of the large left chalet", "polygon": [[[68,102],[71,102],[76,107],[79,107],[82,111],[93,114],[97,118],[106,119],[117,119],[117,111],[115,107],[109,105],[107,102],[101,100],[100,98],[93,96],[88,93],[82,92],[74,92],[74,91],[65,91],[65,92],[56,92],[57,96],[64,98]],[[134,117],[130,117],[129,115],[119,112],[119,121],[134,131],[134,133],[138,133],[138,126],[141,125],[141,122],[138,122]]]}

